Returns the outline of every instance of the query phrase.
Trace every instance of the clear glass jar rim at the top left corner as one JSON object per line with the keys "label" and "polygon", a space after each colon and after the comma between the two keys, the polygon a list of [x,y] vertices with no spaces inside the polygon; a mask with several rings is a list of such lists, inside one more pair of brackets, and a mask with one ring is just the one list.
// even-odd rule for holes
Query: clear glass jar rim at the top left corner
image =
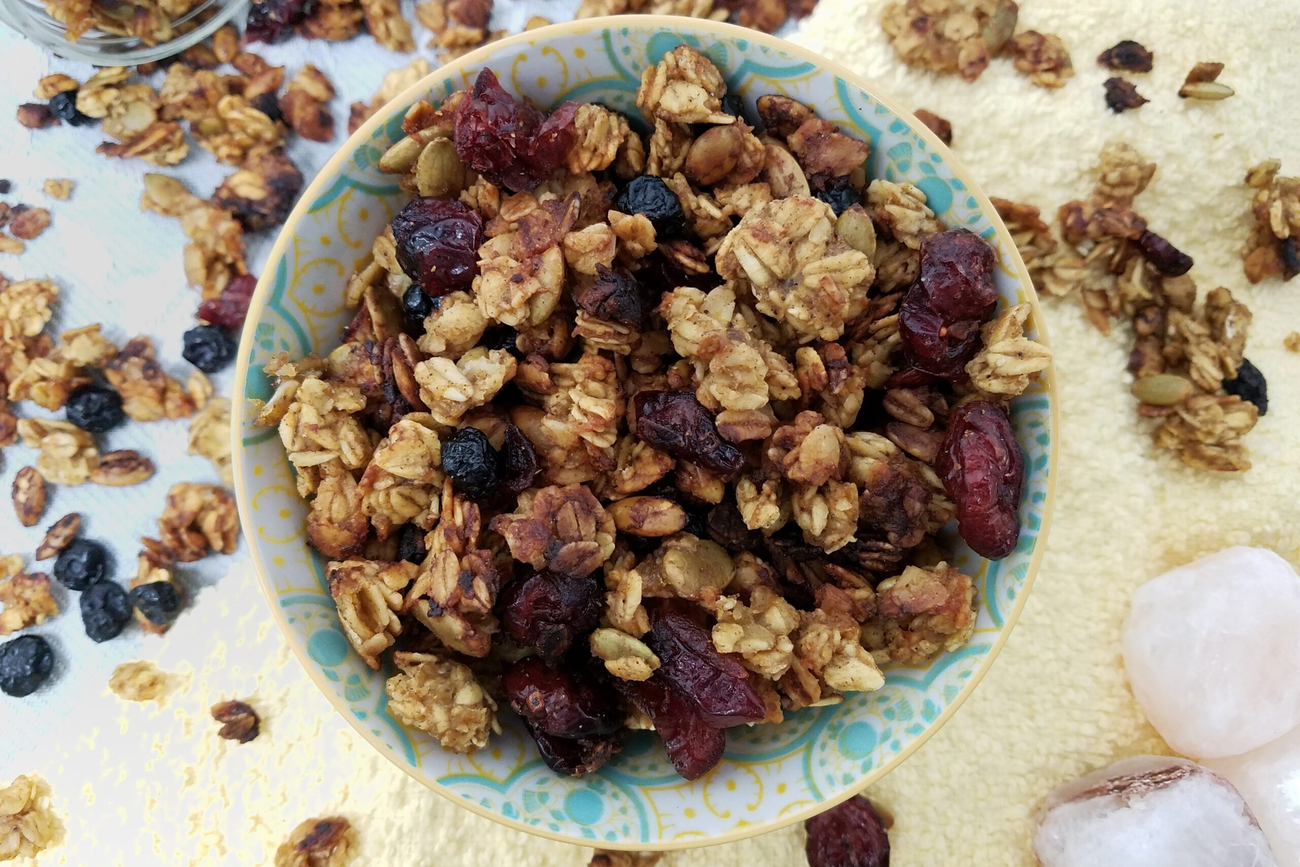
{"label": "clear glass jar rim at the top left corner", "polygon": [[[113,0],[94,1],[105,6],[113,4]],[[0,21],[60,57],[96,66],[134,66],[170,57],[203,42],[247,5],[248,0],[199,0],[172,21],[174,35],[155,45],[146,44],[139,36],[94,27],[72,42],[62,22],[46,10],[42,0],[0,0]]]}

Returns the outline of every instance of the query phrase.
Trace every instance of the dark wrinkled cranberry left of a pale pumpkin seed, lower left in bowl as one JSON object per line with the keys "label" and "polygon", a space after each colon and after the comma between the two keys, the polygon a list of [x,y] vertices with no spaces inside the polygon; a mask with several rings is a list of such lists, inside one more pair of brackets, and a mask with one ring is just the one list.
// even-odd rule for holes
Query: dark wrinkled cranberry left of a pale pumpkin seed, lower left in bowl
{"label": "dark wrinkled cranberry left of a pale pumpkin seed, lower left in bowl", "polygon": [[573,638],[601,625],[604,594],[593,577],[575,578],[537,572],[506,585],[500,594],[500,620],[520,645],[558,660]]}

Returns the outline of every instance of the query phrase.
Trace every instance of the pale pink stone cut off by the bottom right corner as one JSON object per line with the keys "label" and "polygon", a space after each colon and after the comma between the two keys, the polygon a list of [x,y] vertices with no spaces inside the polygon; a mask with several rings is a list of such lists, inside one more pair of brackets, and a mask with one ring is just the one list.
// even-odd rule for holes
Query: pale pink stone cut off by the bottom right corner
{"label": "pale pink stone cut off by the bottom right corner", "polygon": [[1205,764],[1251,805],[1278,861],[1300,864],[1300,728],[1245,755]]}

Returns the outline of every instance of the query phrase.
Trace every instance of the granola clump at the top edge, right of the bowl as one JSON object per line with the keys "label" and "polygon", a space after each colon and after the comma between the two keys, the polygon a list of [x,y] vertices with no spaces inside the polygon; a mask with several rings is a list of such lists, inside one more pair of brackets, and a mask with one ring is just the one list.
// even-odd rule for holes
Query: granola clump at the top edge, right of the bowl
{"label": "granola clump at the top edge, right of the bowl", "polygon": [[880,16],[898,58],[910,66],[972,82],[998,56],[1039,87],[1062,87],[1074,75],[1060,36],[1015,32],[1014,0],[894,0]]}

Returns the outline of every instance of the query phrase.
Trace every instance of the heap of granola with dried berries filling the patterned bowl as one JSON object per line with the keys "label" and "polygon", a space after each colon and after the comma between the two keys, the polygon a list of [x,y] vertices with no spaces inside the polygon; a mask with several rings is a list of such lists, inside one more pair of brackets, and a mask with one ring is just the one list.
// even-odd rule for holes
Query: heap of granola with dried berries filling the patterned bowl
{"label": "heap of granola with dried berries filling the patterned bowl", "polygon": [[581,775],[636,718],[696,779],[727,728],[965,643],[952,519],[1015,545],[1008,407],[1050,364],[1030,305],[998,308],[992,247],[919,188],[868,179],[866,142],[733,104],[686,45],[642,75],[649,142],[491,70],[417,101],[344,342],[265,367],[344,633],[446,749],[508,706]]}

